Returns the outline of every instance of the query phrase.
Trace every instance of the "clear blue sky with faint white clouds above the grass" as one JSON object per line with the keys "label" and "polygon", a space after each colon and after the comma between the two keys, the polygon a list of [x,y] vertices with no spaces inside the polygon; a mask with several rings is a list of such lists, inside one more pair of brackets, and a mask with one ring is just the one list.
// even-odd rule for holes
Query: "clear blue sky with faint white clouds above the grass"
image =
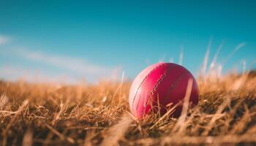
{"label": "clear blue sky with faint white clouds above the grass", "polygon": [[[0,77],[17,80],[132,79],[158,61],[197,75],[210,61],[224,71],[255,63],[254,1],[1,1]],[[222,43],[223,42],[223,43]],[[181,49],[181,47],[183,49]],[[252,65],[252,68],[255,65]]]}

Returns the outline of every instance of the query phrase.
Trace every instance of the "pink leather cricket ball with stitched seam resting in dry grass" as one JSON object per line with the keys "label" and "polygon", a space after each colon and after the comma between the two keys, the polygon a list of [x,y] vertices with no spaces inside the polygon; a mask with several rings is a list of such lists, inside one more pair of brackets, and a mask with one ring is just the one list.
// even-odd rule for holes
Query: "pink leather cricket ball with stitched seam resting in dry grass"
{"label": "pink leather cricket ball with stitched seam resting in dry grass", "polygon": [[[197,82],[187,69],[178,64],[162,62],[148,66],[138,74],[129,91],[132,115],[143,118],[149,112],[160,111],[161,115],[165,114],[184,99],[189,79],[193,80],[189,101],[192,105],[197,105]],[[160,109],[156,110],[157,107]],[[182,104],[176,107],[173,117],[178,117],[181,110]]]}

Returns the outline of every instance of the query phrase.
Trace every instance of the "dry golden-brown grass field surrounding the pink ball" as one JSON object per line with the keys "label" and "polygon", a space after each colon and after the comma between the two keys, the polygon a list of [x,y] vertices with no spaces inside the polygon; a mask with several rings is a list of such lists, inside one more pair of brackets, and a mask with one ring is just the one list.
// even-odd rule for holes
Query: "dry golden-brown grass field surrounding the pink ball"
{"label": "dry golden-brown grass field surrounding the pink ball", "polygon": [[0,145],[256,145],[256,73],[199,77],[181,118],[130,115],[131,82],[0,82]]}

